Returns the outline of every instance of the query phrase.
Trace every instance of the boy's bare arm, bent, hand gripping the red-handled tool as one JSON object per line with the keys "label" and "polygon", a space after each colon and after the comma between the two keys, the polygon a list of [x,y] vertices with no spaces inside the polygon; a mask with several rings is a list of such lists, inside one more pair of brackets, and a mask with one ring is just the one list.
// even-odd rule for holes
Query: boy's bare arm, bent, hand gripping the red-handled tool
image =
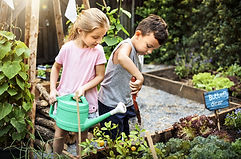
{"label": "boy's bare arm, bent, hand gripping the red-handled tool", "polygon": [[[126,69],[132,76],[136,77],[135,82],[130,82],[130,88],[132,90],[132,94],[136,94],[142,87],[144,82],[144,77],[133,61],[130,59],[131,46],[127,43],[124,43],[120,46],[120,48],[116,51],[115,57],[117,57],[118,63]],[[114,58],[115,58],[114,57]],[[130,79],[131,80],[131,79]]]}

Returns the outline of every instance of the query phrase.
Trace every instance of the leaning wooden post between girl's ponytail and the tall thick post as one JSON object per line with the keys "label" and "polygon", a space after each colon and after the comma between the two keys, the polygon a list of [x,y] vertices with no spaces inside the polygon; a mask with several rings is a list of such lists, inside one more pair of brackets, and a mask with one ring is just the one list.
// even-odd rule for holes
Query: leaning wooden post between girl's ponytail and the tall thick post
{"label": "leaning wooden post between girl's ponytail and the tall thick post", "polygon": [[62,14],[61,14],[61,7],[60,7],[59,0],[53,0],[53,8],[54,8],[54,17],[55,17],[58,44],[59,44],[59,48],[61,48],[62,45],[64,44],[64,29],[63,29],[63,21],[62,21]]}

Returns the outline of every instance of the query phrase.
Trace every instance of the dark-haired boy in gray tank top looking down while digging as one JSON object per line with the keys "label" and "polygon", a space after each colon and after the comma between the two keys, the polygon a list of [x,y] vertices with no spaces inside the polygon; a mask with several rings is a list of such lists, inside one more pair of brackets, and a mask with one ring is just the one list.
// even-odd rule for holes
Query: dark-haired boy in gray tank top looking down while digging
{"label": "dark-haired boy in gray tank top looking down while digging", "polygon": [[[137,55],[151,54],[167,37],[165,21],[157,15],[150,15],[139,23],[131,39],[123,40],[113,50],[98,94],[99,114],[111,111],[119,102],[127,106],[127,112],[110,116],[100,122],[101,127],[109,121],[118,124],[118,128],[112,130],[111,134],[106,132],[112,139],[121,132],[129,135],[128,120],[136,115],[131,95],[140,91],[144,81]],[[136,78],[135,82],[130,81],[132,76]]]}

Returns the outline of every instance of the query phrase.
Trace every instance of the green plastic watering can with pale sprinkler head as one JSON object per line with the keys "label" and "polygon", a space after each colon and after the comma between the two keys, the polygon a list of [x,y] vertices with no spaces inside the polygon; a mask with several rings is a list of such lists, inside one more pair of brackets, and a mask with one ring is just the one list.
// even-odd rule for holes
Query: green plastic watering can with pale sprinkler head
{"label": "green plastic watering can with pale sprinkler head", "polygon": [[[78,114],[76,100],[74,94],[68,94],[65,96],[57,97],[57,112],[54,114],[54,104],[50,105],[49,116],[56,121],[59,128],[78,132]],[[123,103],[118,103],[117,107],[112,111],[103,114],[94,119],[88,119],[89,114],[89,103],[84,96],[80,97],[79,100],[79,114],[80,114],[80,127],[81,132],[87,128],[101,122],[116,113],[125,113],[126,106]]]}

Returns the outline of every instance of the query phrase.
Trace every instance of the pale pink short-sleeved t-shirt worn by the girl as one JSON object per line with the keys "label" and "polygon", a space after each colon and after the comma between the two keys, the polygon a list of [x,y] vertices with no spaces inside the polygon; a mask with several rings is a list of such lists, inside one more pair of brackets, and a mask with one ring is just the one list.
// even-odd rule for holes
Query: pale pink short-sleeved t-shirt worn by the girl
{"label": "pale pink short-sleeved t-shirt worn by the girl", "polygon": [[[59,95],[74,93],[80,86],[92,80],[95,66],[106,63],[103,47],[79,48],[73,41],[65,43],[55,61],[63,66],[61,79],[57,88]],[[98,109],[97,88],[85,92],[89,103],[89,113]]]}

